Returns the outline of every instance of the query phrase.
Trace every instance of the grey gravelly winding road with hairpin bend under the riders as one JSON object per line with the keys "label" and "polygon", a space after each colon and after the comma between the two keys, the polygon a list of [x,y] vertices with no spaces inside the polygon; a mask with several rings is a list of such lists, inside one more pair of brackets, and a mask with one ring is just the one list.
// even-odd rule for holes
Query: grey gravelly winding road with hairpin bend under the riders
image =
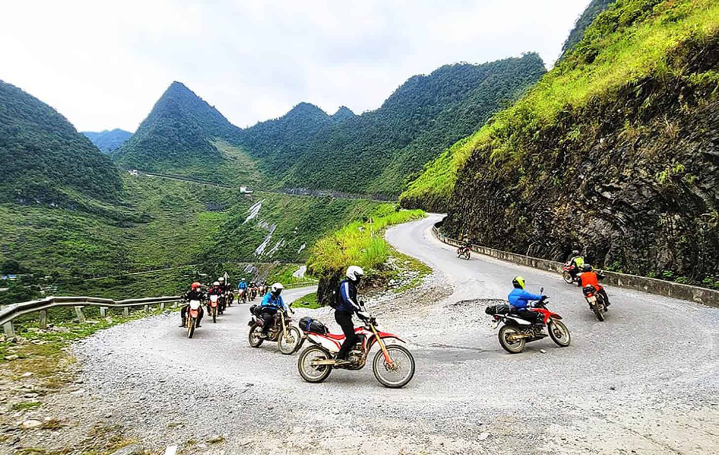
{"label": "grey gravelly winding road with hairpin bend under the riders", "polygon": [[[381,387],[370,367],[303,382],[296,354],[283,356],[273,343],[249,347],[247,305],[234,305],[218,323],[204,321],[194,339],[173,313],[75,344],[89,408],[114,410],[139,440],[179,443],[185,453],[719,453],[719,310],[608,288],[613,305],[600,323],[557,274],[457,259],[431,235],[438,220],[386,235],[433,267],[431,280],[368,304],[416,358],[405,388]],[[544,286],[571,346],[544,339],[522,354],[501,349],[484,308],[504,299],[518,274],[530,290]],[[326,309],[296,316],[304,314],[338,331]],[[78,418],[87,412],[68,409]],[[224,436],[220,446],[187,445],[215,433]]]}

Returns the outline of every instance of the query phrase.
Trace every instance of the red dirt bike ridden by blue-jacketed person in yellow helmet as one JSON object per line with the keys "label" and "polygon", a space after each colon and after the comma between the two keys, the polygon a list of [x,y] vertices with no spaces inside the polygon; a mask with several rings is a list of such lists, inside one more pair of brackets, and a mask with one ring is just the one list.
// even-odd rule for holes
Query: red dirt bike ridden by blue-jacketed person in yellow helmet
{"label": "red dirt bike ridden by blue-jacketed person in yellow helmet", "polygon": [[[542,292],[544,292],[544,288],[539,291],[539,293]],[[494,308],[494,310],[490,311],[491,308]],[[559,321],[562,316],[546,308],[546,300],[536,302],[534,308],[528,308],[528,310],[540,313],[540,317],[546,325],[546,330],[549,332],[549,337],[557,346],[569,346],[569,343],[572,342],[569,328],[562,321]],[[523,351],[526,343],[530,341],[541,340],[546,337],[546,334],[542,333],[542,326],[533,324],[519,317],[516,313],[512,313],[510,305],[488,307],[487,314],[490,314],[494,319],[491,328],[497,328],[500,323],[504,323],[499,329],[499,344],[510,354]]]}

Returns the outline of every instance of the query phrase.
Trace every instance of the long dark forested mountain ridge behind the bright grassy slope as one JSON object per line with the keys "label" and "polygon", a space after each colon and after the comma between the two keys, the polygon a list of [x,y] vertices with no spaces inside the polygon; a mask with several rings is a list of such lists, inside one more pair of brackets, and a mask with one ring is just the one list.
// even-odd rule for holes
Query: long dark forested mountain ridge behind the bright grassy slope
{"label": "long dark forested mountain ridge behind the bright grassy slope", "polygon": [[478,129],[545,72],[531,53],[413,76],[379,109],[351,116],[309,142],[275,148],[292,164],[281,185],[397,195],[406,176]]}

